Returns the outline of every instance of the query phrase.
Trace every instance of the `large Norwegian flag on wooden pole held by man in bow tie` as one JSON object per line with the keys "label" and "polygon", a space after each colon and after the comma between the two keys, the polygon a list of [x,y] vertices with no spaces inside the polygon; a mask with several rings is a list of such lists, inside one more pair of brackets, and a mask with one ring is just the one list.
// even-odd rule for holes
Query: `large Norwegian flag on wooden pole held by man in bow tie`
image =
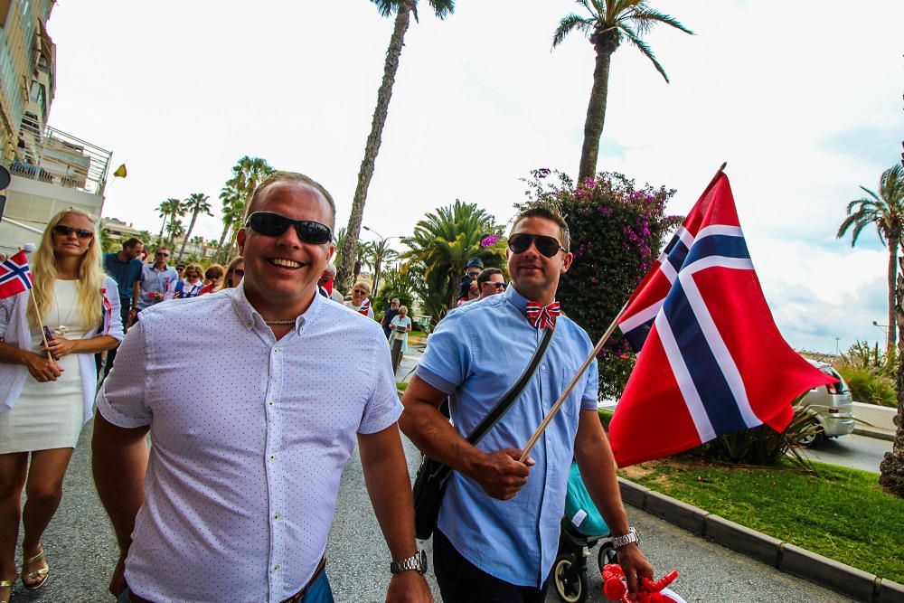
{"label": "large Norwegian flag on wooden pole held by man in bow tie", "polygon": [[638,352],[609,425],[619,466],[763,423],[782,431],[798,394],[835,381],[778,333],[725,174],[693,206],[618,325]]}

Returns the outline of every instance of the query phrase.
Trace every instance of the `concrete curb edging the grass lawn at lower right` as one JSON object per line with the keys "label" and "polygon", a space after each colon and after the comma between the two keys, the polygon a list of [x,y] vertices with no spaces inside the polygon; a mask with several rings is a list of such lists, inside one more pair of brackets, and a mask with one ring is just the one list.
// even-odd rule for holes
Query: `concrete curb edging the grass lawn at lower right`
{"label": "concrete curb edging the grass lawn at lower right", "polygon": [[618,478],[622,501],[662,517],[732,551],[771,565],[778,570],[810,580],[834,592],[870,603],[904,603],[904,586],[882,579],[815,552],[782,542],[724,517],[707,513],[692,504],[654,492],[643,485]]}

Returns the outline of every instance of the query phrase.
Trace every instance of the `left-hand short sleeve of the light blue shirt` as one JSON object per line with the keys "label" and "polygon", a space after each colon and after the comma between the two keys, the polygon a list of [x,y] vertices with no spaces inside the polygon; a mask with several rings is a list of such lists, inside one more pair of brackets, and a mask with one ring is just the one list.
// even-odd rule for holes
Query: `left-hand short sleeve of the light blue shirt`
{"label": "left-hand short sleeve of the light blue shirt", "polygon": [[443,393],[452,393],[465,382],[471,366],[469,330],[462,313],[444,318],[430,334],[427,351],[420,359],[416,375]]}

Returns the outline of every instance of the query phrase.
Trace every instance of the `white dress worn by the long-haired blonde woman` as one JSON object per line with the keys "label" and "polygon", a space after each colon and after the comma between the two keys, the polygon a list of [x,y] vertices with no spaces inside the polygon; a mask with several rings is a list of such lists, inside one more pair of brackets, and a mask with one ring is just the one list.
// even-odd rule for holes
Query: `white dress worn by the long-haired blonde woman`
{"label": "white dress worn by the long-haired blonde woman", "polygon": [[[66,327],[66,339],[81,339],[87,332],[76,306],[75,280],[58,279],[53,304],[44,322],[53,331]],[[96,328],[97,325],[91,325]],[[41,350],[41,331],[32,328],[32,349]],[[55,382],[37,382],[31,373],[12,410],[0,413],[0,454],[50,448],[75,448],[84,417],[79,354],[70,353],[56,363],[63,369]]]}

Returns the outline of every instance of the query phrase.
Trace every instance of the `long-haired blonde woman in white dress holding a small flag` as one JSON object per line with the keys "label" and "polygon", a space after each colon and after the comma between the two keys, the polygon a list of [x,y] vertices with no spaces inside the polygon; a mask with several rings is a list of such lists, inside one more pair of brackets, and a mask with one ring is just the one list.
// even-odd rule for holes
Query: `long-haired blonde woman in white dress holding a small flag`
{"label": "long-haired blonde woman in white dress holding a small flag", "polygon": [[[69,208],[53,216],[29,263],[33,288],[0,299],[0,602],[18,576],[20,519],[24,586],[37,589],[48,577],[41,537],[91,418],[94,354],[115,348],[123,336],[117,285],[100,268],[100,240],[88,213]],[[46,346],[40,325],[47,327]]]}

